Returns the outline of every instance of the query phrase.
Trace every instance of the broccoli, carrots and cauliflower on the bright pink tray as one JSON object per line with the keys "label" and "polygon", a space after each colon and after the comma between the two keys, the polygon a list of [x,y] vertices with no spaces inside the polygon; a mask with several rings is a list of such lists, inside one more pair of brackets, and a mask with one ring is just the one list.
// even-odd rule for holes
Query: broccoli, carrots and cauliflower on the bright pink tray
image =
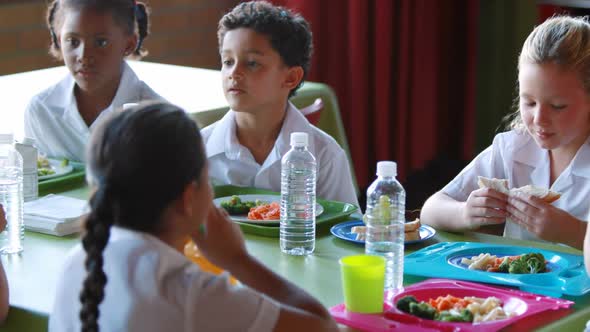
{"label": "broccoli, carrots and cauliflower on the bright pink tray", "polygon": [[442,322],[480,323],[515,315],[504,311],[502,301],[493,296],[460,298],[447,295],[428,301],[418,301],[414,296],[408,295],[399,299],[396,307],[410,315]]}

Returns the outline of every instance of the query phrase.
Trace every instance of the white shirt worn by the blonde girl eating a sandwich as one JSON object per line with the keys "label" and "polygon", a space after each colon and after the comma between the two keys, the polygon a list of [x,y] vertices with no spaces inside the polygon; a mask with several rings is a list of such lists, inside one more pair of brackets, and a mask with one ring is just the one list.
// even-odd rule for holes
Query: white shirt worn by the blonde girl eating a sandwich
{"label": "white shirt worn by the blonde girl eating a sandwich", "polygon": [[[549,188],[549,152],[540,148],[528,134],[515,131],[501,133],[494,137],[492,146],[485,149],[465,167],[442,192],[458,201],[466,201],[469,194],[478,189],[477,176],[508,179],[510,188],[532,184]],[[590,212],[590,139],[578,149],[574,159],[559,175],[551,190],[560,192],[561,197],[553,206],[572,216],[586,221]],[[556,221],[558,222],[558,221]],[[555,225],[559,227],[559,225]],[[507,222],[504,236],[543,241],[519,225]]]}

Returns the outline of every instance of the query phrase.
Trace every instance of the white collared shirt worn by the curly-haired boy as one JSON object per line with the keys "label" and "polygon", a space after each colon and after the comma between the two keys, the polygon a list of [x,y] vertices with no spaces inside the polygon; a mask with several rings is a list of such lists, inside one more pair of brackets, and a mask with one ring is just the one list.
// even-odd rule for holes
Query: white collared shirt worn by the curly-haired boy
{"label": "white collared shirt worn by the curly-haired boy", "polygon": [[359,206],[346,153],[330,135],[310,124],[293,104],[287,106],[279,136],[262,165],[238,141],[235,117],[230,110],[221,120],[201,130],[213,184],[281,191],[281,158],[291,149],[291,133],[305,132],[309,137],[308,149],[317,163],[317,197]]}

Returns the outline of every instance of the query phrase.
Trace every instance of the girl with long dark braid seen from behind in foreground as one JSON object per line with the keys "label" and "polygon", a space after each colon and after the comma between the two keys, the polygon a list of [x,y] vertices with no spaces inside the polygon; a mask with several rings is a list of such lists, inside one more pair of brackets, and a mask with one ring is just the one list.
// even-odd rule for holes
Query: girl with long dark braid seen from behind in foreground
{"label": "girl with long dark braid seen from behind in foreground", "polygon": [[[50,331],[329,331],[329,313],[246,251],[212,203],[201,135],[164,103],[114,112],[92,133],[86,234],[66,259]],[[200,270],[187,240],[236,276]],[[79,316],[78,316],[79,315]]]}

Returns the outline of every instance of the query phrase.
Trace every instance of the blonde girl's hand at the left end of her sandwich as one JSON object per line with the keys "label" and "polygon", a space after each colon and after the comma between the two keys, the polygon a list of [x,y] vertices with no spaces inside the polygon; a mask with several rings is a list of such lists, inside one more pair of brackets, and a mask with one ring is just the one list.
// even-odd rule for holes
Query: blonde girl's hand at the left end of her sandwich
{"label": "blonde girl's hand at the left end of her sandwich", "polygon": [[469,229],[505,222],[508,196],[490,188],[471,192],[463,209],[463,222]]}

